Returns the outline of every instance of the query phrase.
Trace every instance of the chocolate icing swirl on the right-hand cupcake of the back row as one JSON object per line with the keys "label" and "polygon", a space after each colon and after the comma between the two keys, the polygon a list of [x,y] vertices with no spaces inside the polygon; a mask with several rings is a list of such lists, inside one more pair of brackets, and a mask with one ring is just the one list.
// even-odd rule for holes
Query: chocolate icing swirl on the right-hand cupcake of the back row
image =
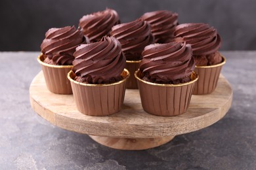
{"label": "chocolate icing swirl on the right-hand cupcake of the back row", "polygon": [[140,18],[151,25],[151,32],[158,43],[173,38],[174,27],[178,25],[178,14],[169,10],[146,12]]}

